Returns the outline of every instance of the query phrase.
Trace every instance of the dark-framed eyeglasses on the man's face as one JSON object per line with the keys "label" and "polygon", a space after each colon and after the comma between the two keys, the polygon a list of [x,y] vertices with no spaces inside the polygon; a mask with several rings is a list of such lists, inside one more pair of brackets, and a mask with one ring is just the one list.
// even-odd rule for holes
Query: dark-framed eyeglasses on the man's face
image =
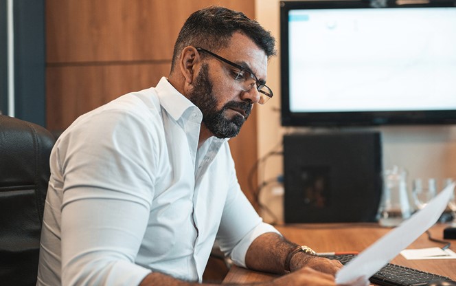
{"label": "dark-framed eyeglasses on the man's face", "polygon": [[201,47],[197,47],[196,50],[198,52],[205,52],[211,56],[214,56],[214,58],[217,58],[219,61],[223,61],[223,63],[227,63],[228,65],[231,65],[231,67],[235,67],[236,70],[232,70],[231,72],[240,89],[243,91],[249,91],[256,85],[256,89],[260,93],[260,101],[258,101],[258,103],[264,104],[269,100],[269,98],[273,97],[273,91],[264,85],[264,83],[259,82],[255,74],[253,74],[250,69],[247,69],[247,67],[242,67],[242,65],[228,61],[226,58],[218,56],[218,54],[209,52],[208,50],[205,50]]}

